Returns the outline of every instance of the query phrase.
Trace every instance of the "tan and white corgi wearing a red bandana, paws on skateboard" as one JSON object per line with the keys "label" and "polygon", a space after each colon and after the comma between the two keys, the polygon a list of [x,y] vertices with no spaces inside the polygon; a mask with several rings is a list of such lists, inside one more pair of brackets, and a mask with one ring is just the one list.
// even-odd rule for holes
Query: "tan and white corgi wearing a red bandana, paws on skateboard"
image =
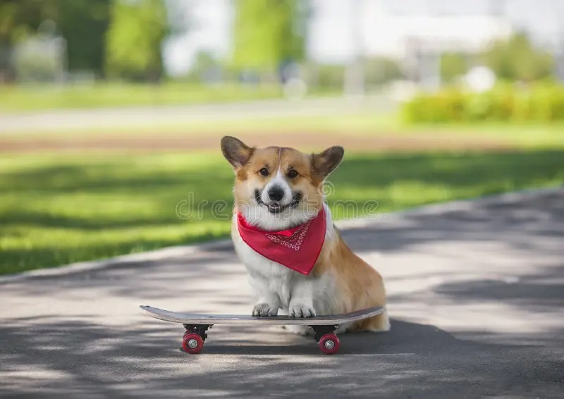
{"label": "tan and white corgi wearing a red bandana, paws on skateboard", "polygon": [[[304,154],[226,136],[221,151],[235,171],[231,236],[258,297],[253,315],[314,317],[386,305],[380,274],[350,250],[324,202],[324,180],[343,147]],[[384,311],[338,331],[389,329]]]}

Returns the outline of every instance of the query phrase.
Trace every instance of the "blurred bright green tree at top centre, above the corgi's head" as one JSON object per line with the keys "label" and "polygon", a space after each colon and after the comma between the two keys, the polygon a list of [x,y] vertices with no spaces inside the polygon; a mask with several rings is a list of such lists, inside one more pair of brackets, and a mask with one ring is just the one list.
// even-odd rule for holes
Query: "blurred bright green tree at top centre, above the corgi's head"
{"label": "blurred bright green tree at top centre, above the corgi's head", "polygon": [[302,59],[304,0],[236,0],[235,10],[235,67],[274,70]]}

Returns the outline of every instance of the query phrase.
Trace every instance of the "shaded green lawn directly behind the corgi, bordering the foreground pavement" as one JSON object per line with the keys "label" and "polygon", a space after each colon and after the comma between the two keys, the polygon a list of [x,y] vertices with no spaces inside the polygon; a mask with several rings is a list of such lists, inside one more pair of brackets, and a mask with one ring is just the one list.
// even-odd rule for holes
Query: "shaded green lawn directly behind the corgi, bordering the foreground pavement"
{"label": "shaded green lawn directly behind the corgi, bordering the foreground pavement", "polygon": [[[0,274],[224,237],[232,180],[216,152],[3,154]],[[564,149],[348,154],[330,180],[330,204],[375,200],[377,212],[397,211],[562,184]],[[228,204],[223,220],[212,216],[218,200]],[[179,202],[191,217],[180,219]]]}

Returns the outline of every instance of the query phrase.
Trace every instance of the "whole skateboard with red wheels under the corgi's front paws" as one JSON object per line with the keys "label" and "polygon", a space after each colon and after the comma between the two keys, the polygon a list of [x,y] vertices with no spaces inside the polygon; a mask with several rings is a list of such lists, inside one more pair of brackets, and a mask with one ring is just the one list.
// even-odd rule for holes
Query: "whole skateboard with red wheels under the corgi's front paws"
{"label": "whole skateboard with red wheels under the corgi's front paws", "polygon": [[339,325],[367,319],[384,312],[384,307],[369,307],[345,314],[331,314],[304,319],[289,316],[259,317],[244,314],[177,313],[150,306],[140,306],[140,308],[155,319],[183,324],[186,331],[183,336],[182,347],[188,353],[199,353],[204,348],[207,330],[211,329],[214,324],[274,324],[308,326],[314,331],[314,338],[319,343],[321,352],[332,355],[339,350],[341,345],[335,333]]}

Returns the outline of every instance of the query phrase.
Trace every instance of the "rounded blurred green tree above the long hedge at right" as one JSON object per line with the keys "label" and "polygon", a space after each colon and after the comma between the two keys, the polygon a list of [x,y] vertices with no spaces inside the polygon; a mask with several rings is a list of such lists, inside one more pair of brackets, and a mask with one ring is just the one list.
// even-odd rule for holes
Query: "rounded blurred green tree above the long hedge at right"
{"label": "rounded blurred green tree above the long hedge at right", "polygon": [[548,78],[554,69],[551,54],[534,47],[522,32],[507,41],[492,44],[484,53],[484,63],[498,78],[524,82]]}

